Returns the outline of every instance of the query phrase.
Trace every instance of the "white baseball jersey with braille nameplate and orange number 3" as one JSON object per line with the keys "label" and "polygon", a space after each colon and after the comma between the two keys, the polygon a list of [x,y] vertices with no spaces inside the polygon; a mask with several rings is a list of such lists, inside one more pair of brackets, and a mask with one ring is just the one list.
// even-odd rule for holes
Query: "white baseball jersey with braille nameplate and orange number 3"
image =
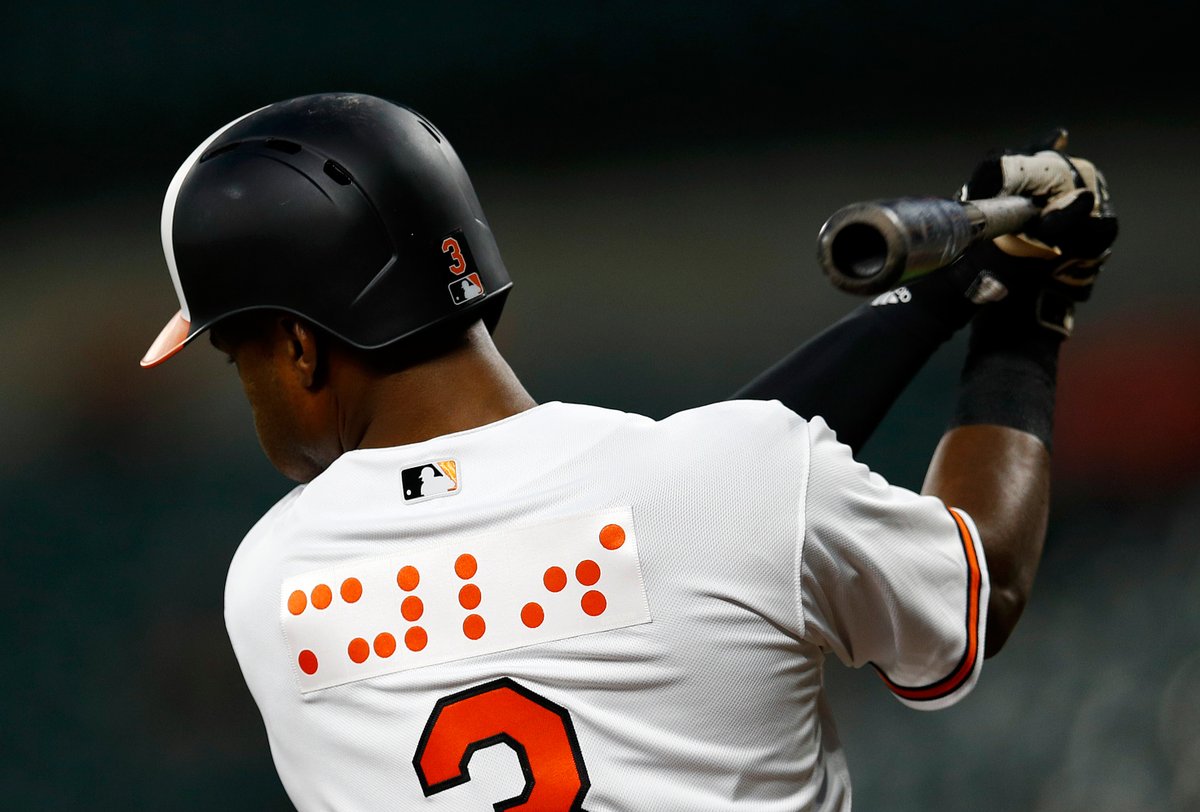
{"label": "white baseball jersey with braille nameplate and orange number 3", "polygon": [[546,403],[350,451],[229,569],[298,808],[846,810],[828,652],[916,708],[973,686],[970,517],[817,419]]}

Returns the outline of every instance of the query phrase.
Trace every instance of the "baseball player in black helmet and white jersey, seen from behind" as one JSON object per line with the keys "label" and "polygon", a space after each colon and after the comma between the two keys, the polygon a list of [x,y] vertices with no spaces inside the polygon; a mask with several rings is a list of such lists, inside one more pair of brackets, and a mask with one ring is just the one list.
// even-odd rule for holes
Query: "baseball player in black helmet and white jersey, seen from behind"
{"label": "baseball player in black helmet and white jersey, seen from behind", "polygon": [[[420,114],[305,96],[206,138],[167,190],[180,312],[143,365],[208,331],[299,483],[226,584],[295,806],[850,808],[824,658],[949,705],[1040,555],[1058,344],[1115,219],[1061,150],[991,156],[964,194],[997,193],[1040,230],[654,421],[527,393],[490,336],[496,240]],[[967,320],[924,494],[890,486],[840,437],[877,421],[856,398],[886,408]],[[884,383],[845,366],[889,337]]]}

